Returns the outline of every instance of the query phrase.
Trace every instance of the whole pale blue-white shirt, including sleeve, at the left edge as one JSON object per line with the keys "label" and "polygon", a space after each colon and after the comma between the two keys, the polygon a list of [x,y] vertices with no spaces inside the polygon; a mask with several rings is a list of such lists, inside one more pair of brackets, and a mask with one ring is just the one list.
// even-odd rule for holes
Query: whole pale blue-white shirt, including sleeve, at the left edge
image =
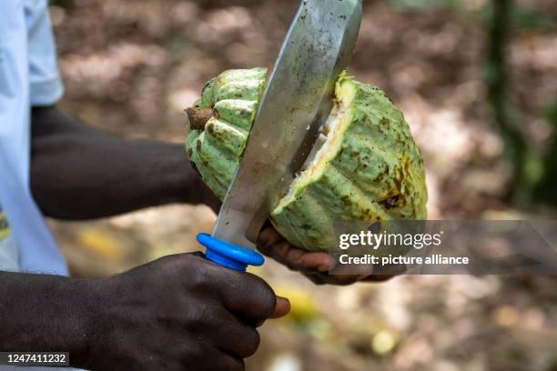
{"label": "whole pale blue-white shirt, including sleeve, at the left edge", "polygon": [[29,107],[52,105],[62,95],[46,0],[0,0],[0,16],[0,203],[19,269],[66,275],[29,188]]}

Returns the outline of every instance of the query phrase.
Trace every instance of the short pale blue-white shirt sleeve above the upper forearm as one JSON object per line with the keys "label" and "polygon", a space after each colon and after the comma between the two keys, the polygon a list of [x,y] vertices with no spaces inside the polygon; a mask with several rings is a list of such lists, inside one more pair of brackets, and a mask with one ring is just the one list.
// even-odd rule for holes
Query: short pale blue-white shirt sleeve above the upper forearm
{"label": "short pale blue-white shirt sleeve above the upper forearm", "polygon": [[24,0],[31,105],[54,105],[64,94],[47,0]]}

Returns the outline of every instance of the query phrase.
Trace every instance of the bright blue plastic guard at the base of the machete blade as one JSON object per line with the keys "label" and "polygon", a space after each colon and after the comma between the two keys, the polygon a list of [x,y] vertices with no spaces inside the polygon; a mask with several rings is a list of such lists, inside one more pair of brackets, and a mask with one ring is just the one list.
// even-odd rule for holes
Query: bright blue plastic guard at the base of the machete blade
{"label": "bright blue plastic guard at the base of the machete blade", "polygon": [[208,260],[240,272],[248,266],[261,266],[265,261],[257,251],[221,241],[206,233],[197,234],[197,242],[207,248],[205,257]]}

